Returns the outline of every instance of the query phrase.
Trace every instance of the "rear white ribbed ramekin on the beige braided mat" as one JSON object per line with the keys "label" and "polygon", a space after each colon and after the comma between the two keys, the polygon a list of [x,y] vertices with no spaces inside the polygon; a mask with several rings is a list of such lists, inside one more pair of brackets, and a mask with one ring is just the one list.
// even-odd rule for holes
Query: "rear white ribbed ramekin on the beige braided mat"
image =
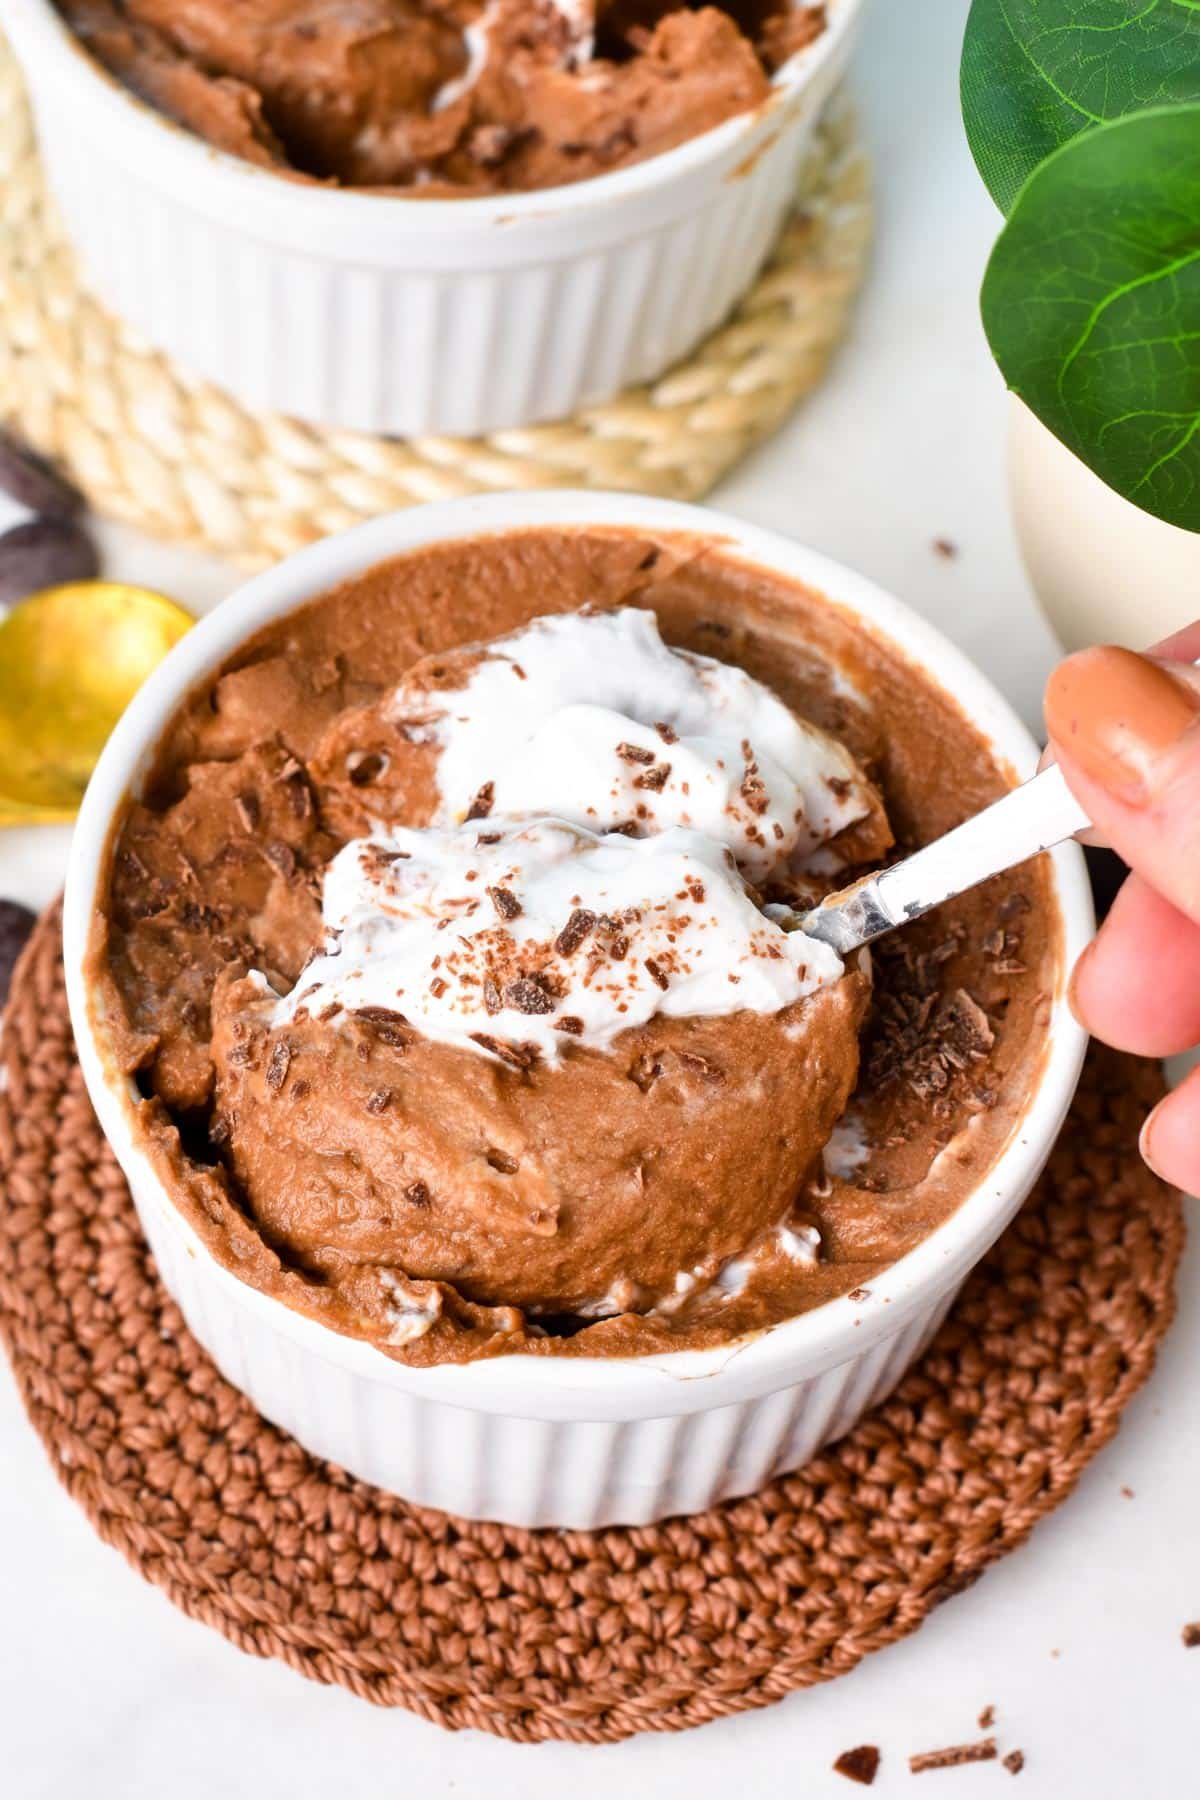
{"label": "rear white ribbed ramekin on the beige braided mat", "polygon": [[718,326],[795,198],[860,11],[829,0],[752,113],[613,175],[477,200],[281,178],[130,95],[52,0],[7,0],[4,27],[95,293],[254,410],[412,436],[565,418]]}

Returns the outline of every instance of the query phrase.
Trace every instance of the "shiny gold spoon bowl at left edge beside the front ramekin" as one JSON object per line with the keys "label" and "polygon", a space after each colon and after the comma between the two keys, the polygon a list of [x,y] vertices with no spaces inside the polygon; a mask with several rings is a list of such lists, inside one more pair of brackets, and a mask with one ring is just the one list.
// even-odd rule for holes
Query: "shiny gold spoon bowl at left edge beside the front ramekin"
{"label": "shiny gold spoon bowl at left edge beside the front ramekin", "polygon": [[193,625],[124,581],[31,594],[0,623],[0,828],[74,819],[126,706]]}

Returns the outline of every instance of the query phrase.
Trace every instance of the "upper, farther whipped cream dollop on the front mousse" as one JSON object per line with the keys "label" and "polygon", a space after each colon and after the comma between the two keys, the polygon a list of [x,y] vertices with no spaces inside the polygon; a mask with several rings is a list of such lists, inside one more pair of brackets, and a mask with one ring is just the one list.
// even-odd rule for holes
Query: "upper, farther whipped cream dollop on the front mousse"
{"label": "upper, farther whipped cream dollop on the front mousse", "polygon": [[437,823],[685,826],[754,882],[869,812],[851,754],[743,670],[662,643],[651,612],[567,612],[480,650],[466,686],[389,709],[439,745]]}

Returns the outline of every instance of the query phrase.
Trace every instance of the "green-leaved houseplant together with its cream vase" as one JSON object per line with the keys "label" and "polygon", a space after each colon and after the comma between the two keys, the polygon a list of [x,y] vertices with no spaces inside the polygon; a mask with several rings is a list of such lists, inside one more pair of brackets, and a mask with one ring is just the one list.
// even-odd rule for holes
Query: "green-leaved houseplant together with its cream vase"
{"label": "green-leaved houseplant together with its cream vase", "polygon": [[1200,7],[973,0],[963,117],[1013,497],[1069,644],[1200,612]]}

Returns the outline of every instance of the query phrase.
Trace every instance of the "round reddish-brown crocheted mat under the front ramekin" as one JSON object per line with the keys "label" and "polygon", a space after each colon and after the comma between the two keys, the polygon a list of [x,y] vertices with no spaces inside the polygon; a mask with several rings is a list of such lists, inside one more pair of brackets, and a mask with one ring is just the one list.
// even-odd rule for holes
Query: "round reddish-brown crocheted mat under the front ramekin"
{"label": "round reddish-brown crocheted mat under the front ramekin", "polygon": [[934,1346],[802,1474],[639,1530],[471,1525],[308,1456],[189,1336],[83,1089],[56,909],[0,1049],[0,1337],[59,1481],[243,1651],[444,1726],[601,1742],[844,1674],[1070,1492],[1173,1312],[1180,1199],[1137,1157],[1162,1078],[1094,1051]]}

